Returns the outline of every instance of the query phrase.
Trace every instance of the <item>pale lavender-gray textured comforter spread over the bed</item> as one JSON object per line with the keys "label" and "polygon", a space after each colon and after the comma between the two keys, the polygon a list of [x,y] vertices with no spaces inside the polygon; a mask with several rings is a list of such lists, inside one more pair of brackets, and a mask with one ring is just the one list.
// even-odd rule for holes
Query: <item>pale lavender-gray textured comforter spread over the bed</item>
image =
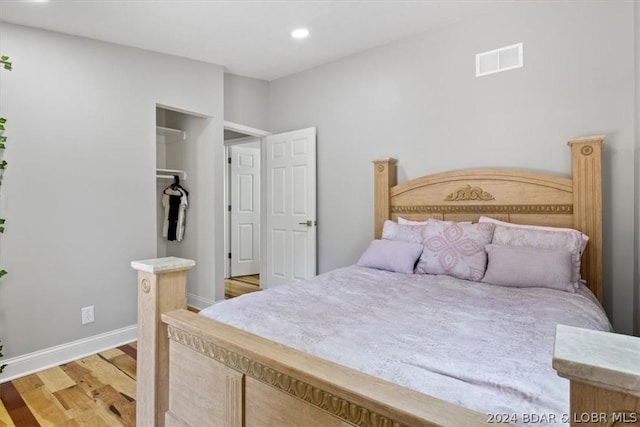
{"label": "pale lavender-gray textured comforter spread over the bed", "polygon": [[569,382],[551,367],[556,324],[610,330],[586,288],[509,288],[358,266],[201,313],[486,413],[489,422],[536,426],[568,420]]}

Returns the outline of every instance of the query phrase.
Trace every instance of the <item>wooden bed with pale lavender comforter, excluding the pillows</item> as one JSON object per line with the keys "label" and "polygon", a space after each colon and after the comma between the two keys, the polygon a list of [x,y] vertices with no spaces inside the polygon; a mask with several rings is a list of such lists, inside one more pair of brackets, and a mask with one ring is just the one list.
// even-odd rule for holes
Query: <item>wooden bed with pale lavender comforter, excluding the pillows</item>
{"label": "wooden bed with pale lavender comforter, excluding the pillows", "polygon": [[[185,310],[185,274],[193,261],[132,263],[139,270],[138,425],[540,425],[544,420],[523,416],[568,412],[565,380],[554,378],[549,383],[529,377],[516,357],[502,357],[508,352],[495,347],[500,342],[505,348],[516,346],[517,352],[530,353],[535,369],[553,373],[550,347],[554,335],[549,330],[555,320],[542,322],[540,331],[535,329],[537,323],[528,313],[537,304],[540,313],[562,312],[563,306],[578,304],[581,307],[573,310],[576,317],[560,314],[559,322],[607,330],[608,321],[598,305],[603,295],[602,142],[600,136],[569,141],[571,178],[514,170],[466,170],[396,185],[396,161],[374,162],[374,237],[383,237],[385,222],[399,217],[475,223],[485,216],[580,230],[589,236],[580,267],[586,286],[578,286],[571,298],[557,290],[482,283],[470,287],[448,276],[373,274],[370,268],[352,266],[304,284],[217,304],[205,310],[207,318]],[[381,286],[383,292],[370,293]],[[438,287],[446,287],[449,293],[427,293],[426,299],[437,303],[422,307],[419,298],[425,298],[425,289]],[[297,309],[281,305],[284,298],[316,301],[321,294],[336,310],[330,316],[326,308],[311,303]],[[455,301],[474,301],[476,307],[461,304],[453,312],[449,308]],[[478,308],[478,301],[484,306]],[[557,307],[550,309],[554,301]],[[512,311],[509,321],[501,317],[507,306]],[[409,317],[378,316],[384,307],[395,307]],[[288,316],[291,311],[298,311],[296,325],[283,327],[283,314]],[[361,317],[344,315],[351,311]],[[425,312],[428,316],[419,317]],[[407,320],[412,316],[420,321],[412,325]],[[479,317],[488,321],[487,329],[474,328],[469,333],[479,324]],[[368,320],[358,320],[362,318]],[[527,347],[526,339],[509,338],[513,331],[506,325],[516,318],[521,320],[520,328],[540,335],[537,342],[544,343],[545,350],[537,352]],[[397,329],[385,329],[394,322]],[[359,329],[360,324],[367,326]],[[420,331],[427,328],[437,333],[424,344]],[[457,340],[455,345],[444,346],[451,337]],[[484,342],[484,347],[472,347],[465,353],[465,343],[473,340]],[[420,351],[389,355],[386,349],[399,342],[404,343],[402,348]],[[490,347],[492,351],[485,351]],[[435,357],[437,353],[440,358]],[[447,364],[447,355],[453,353],[459,354]],[[409,370],[400,369],[399,363]],[[506,376],[475,372],[483,363],[498,366]],[[519,384],[511,387],[510,377]],[[468,396],[460,396],[460,383],[468,389]],[[476,387],[478,383],[491,387]],[[523,386],[529,388],[527,393],[522,393]],[[517,409],[508,400],[514,396],[521,399]]]}

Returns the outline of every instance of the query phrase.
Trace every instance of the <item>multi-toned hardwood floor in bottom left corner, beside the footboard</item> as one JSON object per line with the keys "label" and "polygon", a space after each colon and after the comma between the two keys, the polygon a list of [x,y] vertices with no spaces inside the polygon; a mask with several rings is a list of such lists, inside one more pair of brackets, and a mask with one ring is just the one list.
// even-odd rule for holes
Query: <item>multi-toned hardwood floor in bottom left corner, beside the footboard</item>
{"label": "multi-toned hardwood floor in bottom left corner, beside the footboard", "polygon": [[0,426],[135,426],[136,344],[0,384]]}

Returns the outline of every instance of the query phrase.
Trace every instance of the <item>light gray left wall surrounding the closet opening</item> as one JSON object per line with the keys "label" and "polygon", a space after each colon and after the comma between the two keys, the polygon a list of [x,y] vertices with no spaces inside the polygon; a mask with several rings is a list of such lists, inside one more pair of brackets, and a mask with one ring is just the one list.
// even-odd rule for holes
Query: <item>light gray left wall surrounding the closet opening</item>
{"label": "light gray left wall surrounding the closet opening", "polygon": [[[0,76],[9,120],[0,339],[11,358],[135,324],[130,262],[156,253],[156,103],[214,117],[199,150],[202,162],[222,163],[223,70],[9,24],[0,38],[14,63]],[[210,162],[197,169],[191,225],[207,243],[189,286],[213,297],[222,175]],[[96,321],[82,326],[87,305]]]}

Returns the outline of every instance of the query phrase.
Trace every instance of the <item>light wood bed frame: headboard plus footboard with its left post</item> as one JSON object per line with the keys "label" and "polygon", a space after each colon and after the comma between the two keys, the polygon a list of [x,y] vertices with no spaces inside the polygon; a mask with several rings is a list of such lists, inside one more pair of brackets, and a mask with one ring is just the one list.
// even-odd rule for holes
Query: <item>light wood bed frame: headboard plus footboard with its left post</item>
{"label": "light wood bed frame: headboard plus footboard with its left post", "polygon": [[[386,219],[480,215],[576,228],[590,237],[582,273],[602,299],[601,150],[569,141],[572,177],[513,170],[439,173],[396,185],[374,162],[375,236]],[[138,426],[474,426],[488,415],[285,347],[186,309],[180,258],[133,262],[138,273]],[[551,360],[549,361],[551,363]]]}

